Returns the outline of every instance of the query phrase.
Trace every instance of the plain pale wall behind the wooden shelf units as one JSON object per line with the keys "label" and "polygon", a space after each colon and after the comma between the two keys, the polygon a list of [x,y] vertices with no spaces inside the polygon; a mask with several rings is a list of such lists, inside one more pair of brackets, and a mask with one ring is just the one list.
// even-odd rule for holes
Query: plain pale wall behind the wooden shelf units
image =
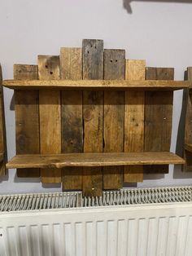
{"label": "plain pale wall behind the wooden shelf units", "polygon": [[[188,2],[188,3],[187,3]],[[174,67],[183,79],[192,65],[192,1],[127,0],[1,0],[0,61],[3,78],[13,77],[13,64],[37,64],[37,55],[59,55],[60,46],[81,46],[83,38],[100,38],[106,48],[123,48],[130,59],[146,59],[147,66]],[[12,90],[5,89],[8,157],[15,155]],[[176,150],[182,91],[174,94],[172,151]],[[182,136],[181,136],[182,137]],[[181,140],[181,139],[180,139]],[[180,147],[181,150],[181,141]],[[188,185],[192,173],[171,166],[169,174],[146,175],[138,187]],[[42,186],[39,179],[18,179],[15,170],[0,178],[0,193],[61,191]]]}

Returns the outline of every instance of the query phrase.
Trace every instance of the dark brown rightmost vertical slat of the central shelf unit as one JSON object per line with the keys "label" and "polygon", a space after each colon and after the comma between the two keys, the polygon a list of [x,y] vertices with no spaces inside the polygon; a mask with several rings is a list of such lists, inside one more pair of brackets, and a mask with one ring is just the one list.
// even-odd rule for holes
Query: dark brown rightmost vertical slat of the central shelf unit
{"label": "dark brown rightmost vertical slat of the central shelf unit", "polygon": [[[146,68],[147,80],[173,80],[174,68]],[[145,151],[169,151],[172,135],[172,91],[147,91]],[[168,166],[145,166],[145,173],[168,173]]]}

